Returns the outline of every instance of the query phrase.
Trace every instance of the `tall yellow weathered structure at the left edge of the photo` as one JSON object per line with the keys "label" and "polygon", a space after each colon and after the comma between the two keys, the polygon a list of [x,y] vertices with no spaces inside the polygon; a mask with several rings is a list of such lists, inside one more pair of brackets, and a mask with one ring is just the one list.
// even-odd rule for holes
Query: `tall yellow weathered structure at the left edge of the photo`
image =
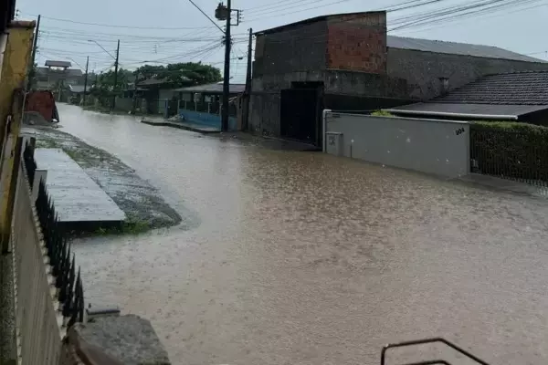
{"label": "tall yellow weathered structure at the left edge of the photo", "polygon": [[25,104],[25,81],[36,23],[14,21],[7,28],[0,73],[0,234],[5,252],[9,237],[15,183],[16,141],[21,130]]}

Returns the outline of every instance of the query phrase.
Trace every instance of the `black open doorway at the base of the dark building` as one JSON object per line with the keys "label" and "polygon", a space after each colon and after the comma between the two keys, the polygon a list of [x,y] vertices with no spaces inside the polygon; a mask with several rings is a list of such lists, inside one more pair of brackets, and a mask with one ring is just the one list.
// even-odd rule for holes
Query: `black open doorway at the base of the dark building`
{"label": "black open doorway at the base of the dark building", "polygon": [[280,134],[283,138],[321,146],[323,87],[280,91]]}

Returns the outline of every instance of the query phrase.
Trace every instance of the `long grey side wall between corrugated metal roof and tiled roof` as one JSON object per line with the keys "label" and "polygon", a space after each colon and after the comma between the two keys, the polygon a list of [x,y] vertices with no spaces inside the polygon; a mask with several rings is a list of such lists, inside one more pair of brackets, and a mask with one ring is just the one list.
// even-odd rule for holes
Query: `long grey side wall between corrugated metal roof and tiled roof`
{"label": "long grey side wall between corrugated metal roof and tiled roof", "polygon": [[489,74],[539,69],[548,69],[548,63],[388,48],[388,76],[406,79],[409,97],[414,99],[439,96],[439,78],[448,78],[449,89],[457,89]]}

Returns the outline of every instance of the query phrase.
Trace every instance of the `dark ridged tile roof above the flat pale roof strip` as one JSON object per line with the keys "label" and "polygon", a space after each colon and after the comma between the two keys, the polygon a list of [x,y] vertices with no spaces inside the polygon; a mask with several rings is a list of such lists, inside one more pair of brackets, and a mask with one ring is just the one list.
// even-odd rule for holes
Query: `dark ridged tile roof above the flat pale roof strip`
{"label": "dark ridged tile roof above the flat pale roof strip", "polygon": [[485,76],[432,101],[452,104],[548,105],[548,71]]}

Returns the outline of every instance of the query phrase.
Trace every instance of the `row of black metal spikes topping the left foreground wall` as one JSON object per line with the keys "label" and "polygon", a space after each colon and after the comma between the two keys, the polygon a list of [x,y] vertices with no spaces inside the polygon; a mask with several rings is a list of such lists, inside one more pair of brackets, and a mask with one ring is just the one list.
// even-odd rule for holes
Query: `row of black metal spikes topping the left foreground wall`
{"label": "row of black metal spikes topping the left foreground wall", "polygon": [[[26,175],[32,187],[36,178],[37,163],[34,159],[34,151],[28,144],[23,155]],[[66,326],[69,328],[74,323],[84,320],[84,288],[79,267],[78,274],[76,272],[75,255],[70,252],[68,235],[63,232],[58,223],[54,203],[47,194],[46,184],[42,181],[38,186],[36,208],[38,222],[47,247],[51,273],[55,276],[59,310],[66,318]]]}

